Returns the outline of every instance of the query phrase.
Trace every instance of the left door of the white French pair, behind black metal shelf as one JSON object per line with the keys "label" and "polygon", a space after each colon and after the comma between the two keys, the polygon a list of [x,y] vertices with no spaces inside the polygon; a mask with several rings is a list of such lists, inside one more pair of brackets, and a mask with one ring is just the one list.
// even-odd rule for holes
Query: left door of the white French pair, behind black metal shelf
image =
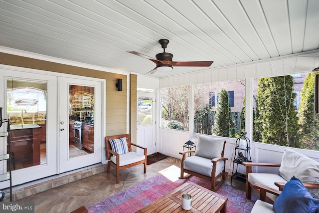
{"label": "left door of the white French pair, behind black metal shelf", "polygon": [[[12,185],[55,175],[57,172],[56,76],[0,69],[0,85],[0,106],[3,107],[4,117],[9,117],[11,124],[10,147],[15,160],[14,168],[13,162],[11,164]],[[1,127],[0,132],[5,131],[3,128]],[[40,134],[42,138],[39,137]],[[7,152],[4,140],[6,138],[0,138],[2,154]],[[3,172],[7,165],[2,166]],[[9,186],[6,182],[1,184]]]}

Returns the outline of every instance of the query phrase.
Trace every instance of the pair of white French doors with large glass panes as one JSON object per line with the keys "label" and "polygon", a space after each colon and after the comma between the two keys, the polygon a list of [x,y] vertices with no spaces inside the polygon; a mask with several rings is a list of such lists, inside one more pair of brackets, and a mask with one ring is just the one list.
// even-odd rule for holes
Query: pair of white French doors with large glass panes
{"label": "pair of white French doors with large glass panes", "polygon": [[[10,118],[15,157],[13,186],[102,161],[103,80],[57,75],[0,65],[0,107],[3,118]],[[5,131],[2,125],[0,132]],[[0,154],[7,152],[6,137],[1,137]],[[8,170],[3,162],[0,174]],[[0,182],[0,189],[7,187],[8,181]]]}

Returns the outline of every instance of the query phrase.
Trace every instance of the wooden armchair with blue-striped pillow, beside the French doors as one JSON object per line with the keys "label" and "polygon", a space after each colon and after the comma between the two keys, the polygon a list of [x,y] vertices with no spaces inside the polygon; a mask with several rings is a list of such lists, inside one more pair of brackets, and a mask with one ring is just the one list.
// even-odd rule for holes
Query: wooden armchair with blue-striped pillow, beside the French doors
{"label": "wooden armchair with blue-striped pillow, beside the French doors", "polygon": [[[114,140],[114,139],[122,139],[122,140]],[[122,144],[121,144],[121,141],[122,141]],[[127,147],[124,147],[123,141],[126,141]],[[105,150],[107,151],[107,158],[109,160],[107,172],[108,173],[110,172],[111,166],[116,169],[117,184],[120,183],[121,170],[130,168],[139,164],[144,164],[144,173],[146,173],[147,148],[141,147],[137,144],[131,144],[131,138],[129,134],[108,136],[106,137],[105,143],[106,143]],[[111,144],[113,146],[115,145],[116,147],[112,147]],[[141,155],[136,152],[132,152],[132,145],[139,147],[141,149],[144,149],[144,155]],[[127,150],[127,152],[121,153],[121,151],[123,150]]]}

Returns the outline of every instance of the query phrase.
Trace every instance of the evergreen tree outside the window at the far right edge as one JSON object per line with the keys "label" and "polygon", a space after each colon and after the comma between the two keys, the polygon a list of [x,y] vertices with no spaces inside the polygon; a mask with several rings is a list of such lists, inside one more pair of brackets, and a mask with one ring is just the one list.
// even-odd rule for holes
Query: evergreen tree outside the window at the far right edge
{"label": "evergreen tree outside the window at the far right edge", "polygon": [[[307,75],[300,92],[298,111],[300,135],[303,149],[319,150],[319,114],[315,112],[315,78],[319,72]],[[317,142],[317,143],[316,143]]]}

